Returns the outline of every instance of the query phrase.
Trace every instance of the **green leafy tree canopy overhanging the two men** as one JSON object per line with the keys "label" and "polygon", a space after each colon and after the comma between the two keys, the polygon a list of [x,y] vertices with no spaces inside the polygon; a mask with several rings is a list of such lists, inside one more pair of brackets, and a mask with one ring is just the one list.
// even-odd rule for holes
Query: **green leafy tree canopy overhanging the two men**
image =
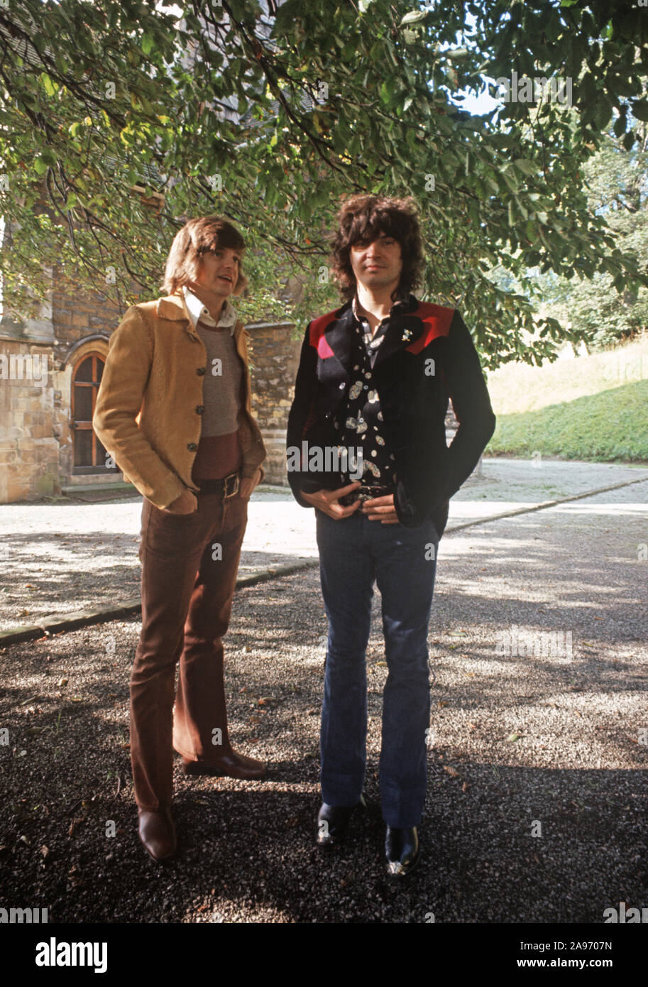
{"label": "green leafy tree canopy overhanging the two men", "polygon": [[[607,136],[645,137],[637,5],[22,0],[0,6],[0,47],[0,262],[18,312],[50,286],[43,267],[151,297],[184,219],[219,212],[250,245],[244,316],[303,322],[339,304],[326,234],[357,191],[414,196],[418,293],[461,308],[493,367],[591,332],[534,321],[539,272],[648,285],[582,181]],[[495,109],[462,109],[488,81]]]}

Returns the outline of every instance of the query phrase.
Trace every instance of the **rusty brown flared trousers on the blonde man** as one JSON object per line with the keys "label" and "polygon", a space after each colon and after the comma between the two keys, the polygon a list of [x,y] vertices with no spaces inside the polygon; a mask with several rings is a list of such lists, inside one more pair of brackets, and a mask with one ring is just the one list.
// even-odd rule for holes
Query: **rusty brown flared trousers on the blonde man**
{"label": "rusty brown flared trousers on the blonde man", "polygon": [[[223,637],[232,612],[248,498],[198,493],[192,514],[142,508],[142,633],[130,677],[135,801],[171,805],[173,750],[215,764],[231,751]],[[176,665],[180,677],[176,708]]]}

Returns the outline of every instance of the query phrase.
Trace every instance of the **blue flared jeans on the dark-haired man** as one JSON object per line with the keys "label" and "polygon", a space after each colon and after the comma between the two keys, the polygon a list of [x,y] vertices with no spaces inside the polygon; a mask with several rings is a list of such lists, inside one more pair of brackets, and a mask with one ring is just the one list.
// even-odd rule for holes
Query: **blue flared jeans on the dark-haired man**
{"label": "blue flared jeans on the dark-haired man", "polygon": [[322,708],[322,797],[355,805],[367,763],[367,666],[374,582],[382,597],[389,668],[383,696],[380,787],[389,826],[416,826],[425,799],[430,687],[427,631],[439,537],[370,521],[360,511],[334,521],[316,510],[328,618]]}

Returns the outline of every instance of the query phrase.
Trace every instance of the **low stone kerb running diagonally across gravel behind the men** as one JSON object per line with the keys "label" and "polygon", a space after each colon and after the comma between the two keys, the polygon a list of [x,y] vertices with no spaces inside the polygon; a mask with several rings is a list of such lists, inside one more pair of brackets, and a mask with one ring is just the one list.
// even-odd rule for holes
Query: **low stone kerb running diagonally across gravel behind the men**
{"label": "low stone kerb running diagonally across gravel behind the men", "polygon": [[[463,524],[454,524],[446,528],[444,535],[453,531],[463,531],[464,528],[471,528],[475,524],[487,524],[489,521],[499,521],[503,517],[515,517],[516,514],[530,514],[536,510],[545,510],[547,507],[555,507],[560,503],[568,503],[570,500],[582,500],[585,497],[595,496],[597,493],[608,493],[619,490],[621,487],[631,487],[633,484],[648,483],[648,477],[640,477],[637,480],[625,480],[620,484],[612,484],[611,487],[599,487],[597,490],[586,493],[573,493],[571,496],[563,496],[558,500],[542,500],[541,503],[533,504],[531,507],[516,507],[515,510],[506,510],[500,514],[490,514],[487,517],[474,518],[472,521],[465,521]],[[305,559],[301,562],[289,563],[286,566],[276,566],[272,569],[256,569],[247,575],[242,575],[237,579],[237,589],[243,586],[254,586],[258,582],[268,582],[270,579],[278,579],[282,575],[291,575],[301,569],[314,569],[320,565],[318,558]],[[122,617],[132,617],[141,613],[142,604],[140,597],[132,597],[121,603],[117,607],[101,607],[98,610],[78,610],[76,613],[67,614],[64,617],[45,617],[38,624],[27,624],[22,627],[11,627],[7,631],[0,631],[0,648],[6,645],[17,645],[24,641],[37,641],[40,638],[50,638],[54,634],[64,634],[67,631],[78,631],[81,627],[90,627],[93,624],[105,624],[107,621],[119,620]]]}

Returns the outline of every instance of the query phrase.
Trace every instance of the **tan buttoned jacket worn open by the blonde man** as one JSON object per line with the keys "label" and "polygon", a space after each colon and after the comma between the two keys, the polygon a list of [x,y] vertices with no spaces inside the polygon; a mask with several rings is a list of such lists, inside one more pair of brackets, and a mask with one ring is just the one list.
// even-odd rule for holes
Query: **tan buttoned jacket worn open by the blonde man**
{"label": "tan buttoned jacket worn open by the blonde man", "polygon": [[[244,364],[241,476],[253,477],[265,448],[252,418],[248,346],[240,319],[234,338]],[[133,305],[108,342],[93,426],[124,480],[156,507],[168,507],[185,488],[199,491],[191,468],[202,424],[198,409],[206,362],[180,293]]]}

